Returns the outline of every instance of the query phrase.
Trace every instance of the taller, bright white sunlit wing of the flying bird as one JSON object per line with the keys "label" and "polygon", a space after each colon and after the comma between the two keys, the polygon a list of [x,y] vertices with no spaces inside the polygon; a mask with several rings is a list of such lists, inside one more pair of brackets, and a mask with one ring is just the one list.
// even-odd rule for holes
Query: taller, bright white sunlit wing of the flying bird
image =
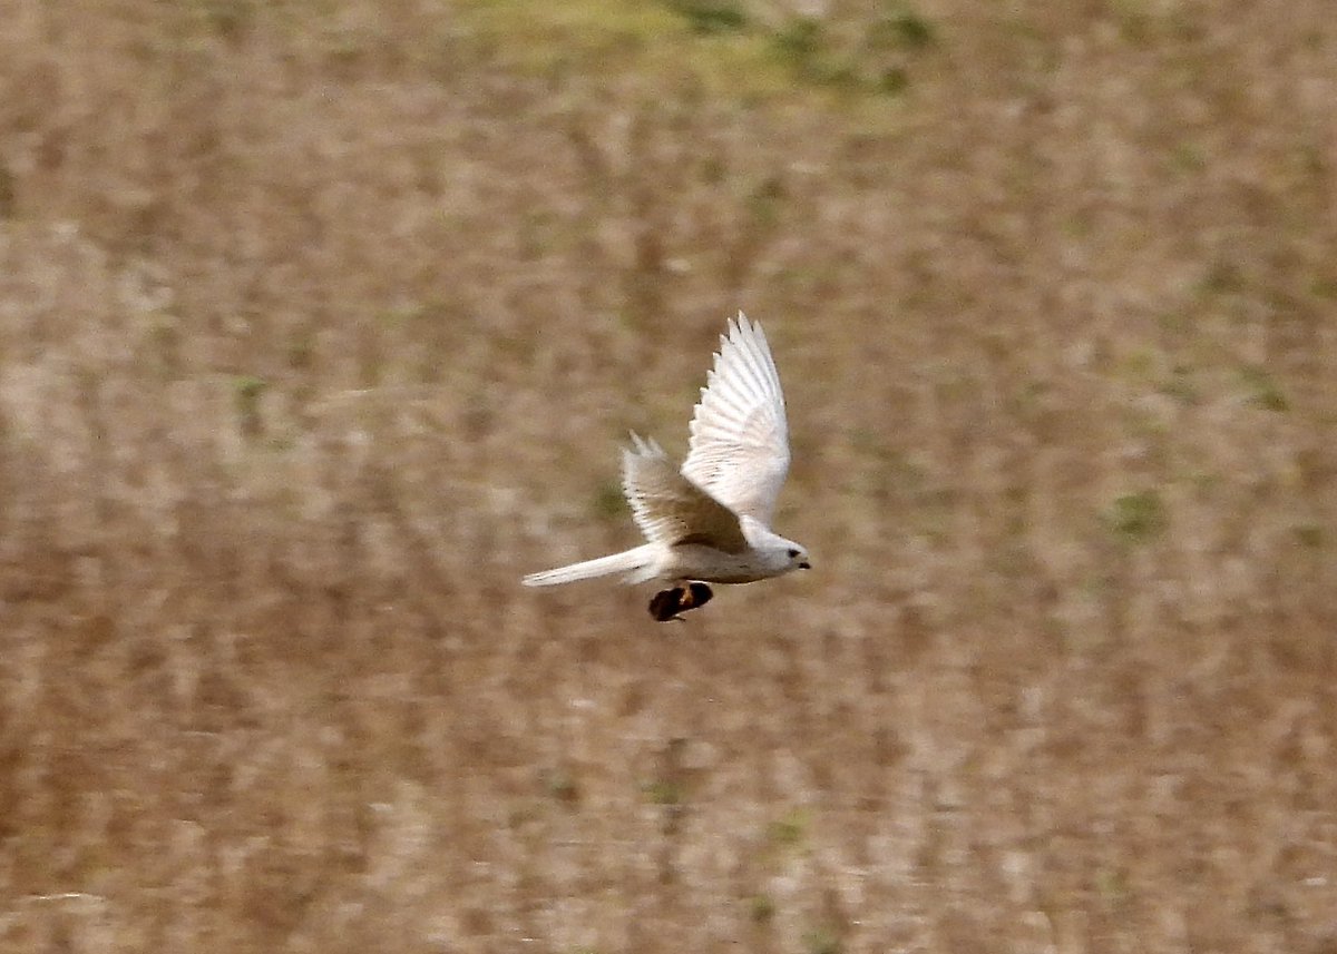
{"label": "taller, bright white sunlit wing of the flying bird", "polygon": [[742,311],[719,339],[701,389],[682,473],[734,512],[770,525],[789,473],[789,425],[766,335]]}

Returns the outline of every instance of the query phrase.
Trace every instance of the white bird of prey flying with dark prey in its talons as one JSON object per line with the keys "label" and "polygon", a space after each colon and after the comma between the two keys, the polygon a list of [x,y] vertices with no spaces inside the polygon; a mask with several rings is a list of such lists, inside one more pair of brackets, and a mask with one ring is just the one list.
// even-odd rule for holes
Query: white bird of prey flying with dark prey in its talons
{"label": "white bird of prey flying with dark prey in its talons", "polygon": [[809,569],[808,550],[770,529],[789,473],[789,426],[779,374],[761,325],[739,311],[719,339],[691,418],[687,460],[675,468],[655,441],[631,436],[622,492],[647,542],[622,553],[529,573],[552,587],[622,573],[670,584],[650,601],[660,623],[705,605],[711,583],[755,583]]}

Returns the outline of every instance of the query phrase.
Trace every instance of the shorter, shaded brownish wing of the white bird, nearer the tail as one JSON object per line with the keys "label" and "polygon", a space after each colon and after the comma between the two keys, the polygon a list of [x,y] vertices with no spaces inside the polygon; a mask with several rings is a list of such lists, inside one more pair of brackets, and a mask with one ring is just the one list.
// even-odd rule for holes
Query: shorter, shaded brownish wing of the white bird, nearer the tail
{"label": "shorter, shaded brownish wing of the white bird, nearer the tail", "polygon": [[622,452],[622,492],[650,542],[747,549],[738,514],[683,477],[658,444],[635,434],[631,441]]}

